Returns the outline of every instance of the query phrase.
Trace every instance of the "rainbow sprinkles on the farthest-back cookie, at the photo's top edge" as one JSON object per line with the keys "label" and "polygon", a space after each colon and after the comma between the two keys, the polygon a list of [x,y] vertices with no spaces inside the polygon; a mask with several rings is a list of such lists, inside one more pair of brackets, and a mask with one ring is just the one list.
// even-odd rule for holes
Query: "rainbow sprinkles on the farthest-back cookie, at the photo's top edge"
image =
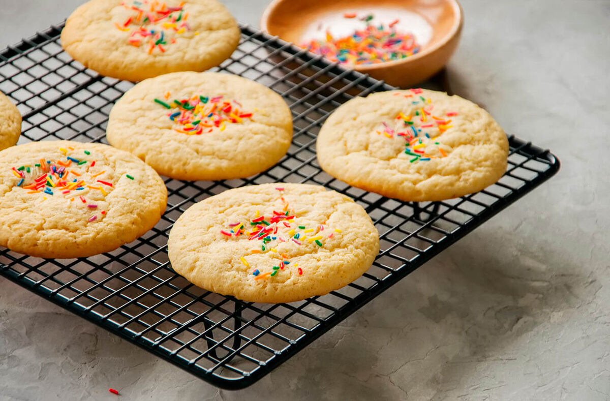
{"label": "rainbow sprinkles on the farthest-back cookie, at the photo's top edge", "polygon": [[[184,12],[184,2],[178,7],[168,7],[156,0],[133,1],[131,4],[121,2],[121,5],[132,15],[123,23],[115,23],[115,26],[124,32],[131,32],[127,41],[132,46],[139,48],[141,44],[148,44],[148,54],[155,49],[165,52],[163,46],[176,43],[176,38],[170,37],[170,34],[182,35],[191,30],[187,23],[188,12]],[[198,34],[195,32],[195,35]]]}

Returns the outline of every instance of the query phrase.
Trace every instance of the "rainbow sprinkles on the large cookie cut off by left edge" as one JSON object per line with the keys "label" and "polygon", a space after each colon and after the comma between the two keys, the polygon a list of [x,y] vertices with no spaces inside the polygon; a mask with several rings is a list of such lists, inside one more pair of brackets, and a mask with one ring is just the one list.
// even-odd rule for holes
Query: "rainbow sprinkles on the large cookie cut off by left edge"
{"label": "rainbow sprinkles on the large cookie cut off by left edge", "polygon": [[[68,149],[74,150],[73,147]],[[43,200],[47,199],[46,195],[61,195],[66,199],[70,199],[70,202],[74,202],[77,199],[84,207],[93,211],[94,214],[91,215],[88,221],[95,221],[98,219],[98,205],[87,200],[81,191],[85,189],[95,190],[106,197],[114,189],[114,184],[98,179],[99,176],[106,172],[105,170],[93,175],[88,174],[89,169],[95,166],[96,161],[82,160],[82,158],[88,157],[91,152],[84,151],[84,156],[77,158],[68,156],[68,149],[59,148],[65,155],[65,160],[40,159],[38,163],[33,163],[32,165],[13,167],[12,172],[17,178],[16,186],[23,188],[23,190],[28,190],[28,194],[43,194]],[[126,174],[126,177],[131,180],[134,179],[129,174]],[[106,210],[101,211],[100,218],[104,215],[106,215]]]}

